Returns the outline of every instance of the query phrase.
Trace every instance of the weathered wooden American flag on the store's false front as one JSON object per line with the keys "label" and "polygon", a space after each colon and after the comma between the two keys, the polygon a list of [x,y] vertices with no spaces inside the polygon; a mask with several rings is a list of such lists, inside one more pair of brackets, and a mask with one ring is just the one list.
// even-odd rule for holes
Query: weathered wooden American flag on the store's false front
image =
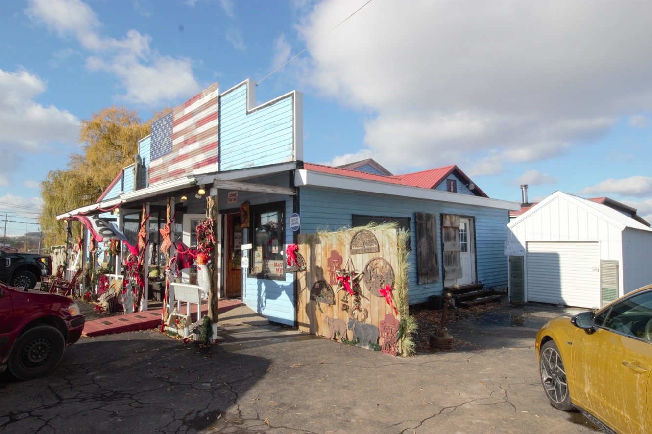
{"label": "weathered wooden American flag on the store's false front", "polygon": [[152,124],[149,185],[219,170],[219,101],[215,83]]}

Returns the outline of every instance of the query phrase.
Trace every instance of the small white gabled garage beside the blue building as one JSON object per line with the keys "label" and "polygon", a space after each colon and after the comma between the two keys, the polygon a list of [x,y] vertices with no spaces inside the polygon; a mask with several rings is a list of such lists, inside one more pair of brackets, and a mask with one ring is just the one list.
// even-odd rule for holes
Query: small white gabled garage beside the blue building
{"label": "small white gabled garage beside the blue building", "polygon": [[600,308],[652,283],[652,229],[600,203],[556,192],[507,227],[511,301]]}

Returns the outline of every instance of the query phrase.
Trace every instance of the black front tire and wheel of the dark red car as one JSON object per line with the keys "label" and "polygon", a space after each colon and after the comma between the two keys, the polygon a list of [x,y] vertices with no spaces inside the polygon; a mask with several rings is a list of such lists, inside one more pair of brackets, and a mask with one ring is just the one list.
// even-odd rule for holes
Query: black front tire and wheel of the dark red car
{"label": "black front tire and wheel of the dark red car", "polygon": [[18,336],[9,354],[7,367],[19,380],[40,377],[57,367],[65,349],[66,341],[57,328],[35,326]]}

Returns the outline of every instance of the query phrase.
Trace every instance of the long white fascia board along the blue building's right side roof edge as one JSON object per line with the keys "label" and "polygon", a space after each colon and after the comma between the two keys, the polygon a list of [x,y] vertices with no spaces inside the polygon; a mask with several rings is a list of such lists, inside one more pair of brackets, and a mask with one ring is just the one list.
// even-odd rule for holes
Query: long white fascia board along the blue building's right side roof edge
{"label": "long white fascia board along the blue building's right side roof edge", "polygon": [[430,188],[391,184],[389,182],[372,181],[369,179],[356,179],[306,169],[297,169],[296,172],[295,185],[297,187],[306,186],[328,188],[330,190],[347,190],[350,192],[408,197],[409,199],[456,203],[511,211],[520,209],[520,203],[490,199],[488,197],[442,192]]}

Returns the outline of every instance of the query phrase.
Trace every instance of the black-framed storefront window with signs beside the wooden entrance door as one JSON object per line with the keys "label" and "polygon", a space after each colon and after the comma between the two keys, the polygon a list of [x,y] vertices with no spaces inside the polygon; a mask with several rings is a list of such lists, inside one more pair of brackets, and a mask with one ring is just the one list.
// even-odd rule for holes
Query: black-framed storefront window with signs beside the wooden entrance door
{"label": "black-framed storefront window with signs beside the wooden entrance door", "polygon": [[269,279],[285,277],[284,208],[284,202],[251,207],[250,275]]}

